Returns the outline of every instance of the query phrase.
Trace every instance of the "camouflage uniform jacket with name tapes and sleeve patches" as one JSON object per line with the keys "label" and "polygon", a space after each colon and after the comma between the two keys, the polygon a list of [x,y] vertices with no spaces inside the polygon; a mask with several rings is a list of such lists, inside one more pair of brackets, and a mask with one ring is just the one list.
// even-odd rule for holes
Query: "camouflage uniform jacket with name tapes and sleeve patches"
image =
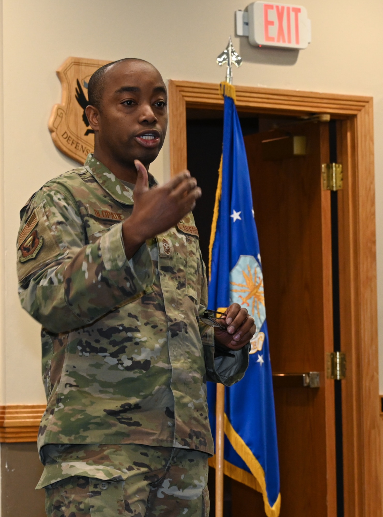
{"label": "camouflage uniform jacket with name tapes and sleeve patches", "polygon": [[128,261],[121,229],[132,206],[132,190],[89,155],[21,210],[19,292],[42,324],[48,399],[38,447],[136,443],[212,454],[206,381],[239,381],[248,347],[214,359],[214,331],[198,320],[207,279],[193,216]]}

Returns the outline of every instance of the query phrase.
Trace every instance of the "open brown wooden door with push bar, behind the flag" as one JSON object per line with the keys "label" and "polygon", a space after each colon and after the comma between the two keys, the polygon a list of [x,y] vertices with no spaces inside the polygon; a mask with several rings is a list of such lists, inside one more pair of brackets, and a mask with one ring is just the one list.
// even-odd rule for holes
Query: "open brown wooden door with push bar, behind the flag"
{"label": "open brown wooden door with push bar, behind the flag", "polygon": [[[307,154],[266,159],[262,142],[289,134],[306,137]],[[281,517],[336,517],[334,381],[326,379],[326,353],[333,351],[331,212],[321,181],[321,164],[329,161],[328,124],[249,135],[245,145],[273,373],[320,372],[319,388],[274,385]],[[244,491],[238,490],[242,501]],[[233,486],[237,517],[244,503],[235,493]],[[251,499],[246,514],[263,515],[251,511]]]}

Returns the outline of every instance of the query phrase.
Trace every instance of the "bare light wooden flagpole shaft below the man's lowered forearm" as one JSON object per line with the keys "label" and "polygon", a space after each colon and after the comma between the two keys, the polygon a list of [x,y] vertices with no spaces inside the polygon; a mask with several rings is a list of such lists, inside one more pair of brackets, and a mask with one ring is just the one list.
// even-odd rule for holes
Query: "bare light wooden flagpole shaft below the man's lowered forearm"
{"label": "bare light wooden flagpole shaft below the man's lowered forearm", "polygon": [[225,386],[223,384],[217,384],[215,406],[215,517],[224,516],[224,413]]}

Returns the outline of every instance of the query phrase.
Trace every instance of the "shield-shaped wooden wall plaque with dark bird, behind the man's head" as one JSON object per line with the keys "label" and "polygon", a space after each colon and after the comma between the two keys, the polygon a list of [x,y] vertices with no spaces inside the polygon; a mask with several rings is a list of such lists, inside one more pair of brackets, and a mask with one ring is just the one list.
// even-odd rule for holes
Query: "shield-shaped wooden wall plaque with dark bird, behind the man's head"
{"label": "shield-shaped wooden wall plaque with dark bird, behind the man's head", "polygon": [[54,145],[81,165],[93,153],[94,134],[85,115],[87,86],[91,75],[110,61],[68,57],[57,70],[63,89],[61,104],[55,104],[48,127]]}

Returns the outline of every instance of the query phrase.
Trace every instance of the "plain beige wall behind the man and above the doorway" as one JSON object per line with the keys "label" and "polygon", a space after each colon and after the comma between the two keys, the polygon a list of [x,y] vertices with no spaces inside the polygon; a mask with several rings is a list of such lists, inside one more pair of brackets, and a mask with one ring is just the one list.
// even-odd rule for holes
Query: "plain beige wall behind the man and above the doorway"
{"label": "plain beige wall behind the man and above the doorway", "polygon": [[[234,10],[246,6],[242,1],[3,0],[0,403],[44,401],[39,325],[19,306],[14,242],[18,212],[28,197],[47,179],[76,166],[54,147],[48,131],[52,106],[61,100],[56,68],[70,55],[113,60],[136,56],[151,61],[167,79],[219,82],[224,72],[215,58],[234,33]],[[383,3],[302,4],[312,20],[310,47],[298,55],[250,48],[234,38],[244,58],[243,66],[234,70],[234,83],[374,96],[383,393]],[[152,169],[161,181],[168,177],[167,164],[165,149]]]}

